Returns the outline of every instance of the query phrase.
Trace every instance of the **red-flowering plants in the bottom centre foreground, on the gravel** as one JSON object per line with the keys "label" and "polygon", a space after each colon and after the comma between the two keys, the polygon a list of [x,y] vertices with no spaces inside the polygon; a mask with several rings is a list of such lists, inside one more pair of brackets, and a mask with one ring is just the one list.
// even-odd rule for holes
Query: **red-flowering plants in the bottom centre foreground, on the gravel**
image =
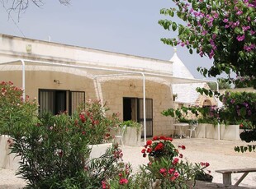
{"label": "red-flowering plants in the bottom centre foreground, on the gravel", "polygon": [[[141,173],[149,180],[157,181],[160,188],[190,188],[197,179],[197,174],[209,164],[192,164],[183,160],[180,150],[185,150],[184,145],[175,147],[173,139],[166,136],[155,136],[147,141],[141,150],[143,157],[149,156],[149,164],[141,166]],[[194,182],[193,182],[194,181]]]}

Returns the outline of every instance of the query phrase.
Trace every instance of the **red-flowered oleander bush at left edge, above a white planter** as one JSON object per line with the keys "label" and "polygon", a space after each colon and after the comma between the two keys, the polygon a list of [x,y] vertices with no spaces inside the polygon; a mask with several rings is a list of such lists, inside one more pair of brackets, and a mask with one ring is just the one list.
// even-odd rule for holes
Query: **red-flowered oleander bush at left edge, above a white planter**
{"label": "red-flowered oleander bush at left edge, above a white planter", "polygon": [[11,81],[0,83],[0,135],[18,133],[26,124],[35,122],[36,99],[23,99],[22,93]]}

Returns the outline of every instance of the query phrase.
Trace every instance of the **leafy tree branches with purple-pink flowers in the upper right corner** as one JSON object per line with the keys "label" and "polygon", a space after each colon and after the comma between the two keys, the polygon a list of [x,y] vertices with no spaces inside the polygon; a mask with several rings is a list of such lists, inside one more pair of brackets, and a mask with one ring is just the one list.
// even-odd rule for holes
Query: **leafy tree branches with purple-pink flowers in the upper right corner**
{"label": "leafy tree branches with purple-pink flowers in the upper right corner", "polygon": [[[187,25],[160,20],[165,30],[178,30],[178,37],[162,38],[164,44],[186,46],[201,57],[213,59],[210,69],[198,67],[203,76],[218,76],[225,72],[233,83],[244,80],[256,88],[255,63],[255,0],[173,0],[176,7],[160,11],[166,16],[178,16]],[[237,78],[231,78],[235,72]],[[249,79],[248,79],[249,78]]]}

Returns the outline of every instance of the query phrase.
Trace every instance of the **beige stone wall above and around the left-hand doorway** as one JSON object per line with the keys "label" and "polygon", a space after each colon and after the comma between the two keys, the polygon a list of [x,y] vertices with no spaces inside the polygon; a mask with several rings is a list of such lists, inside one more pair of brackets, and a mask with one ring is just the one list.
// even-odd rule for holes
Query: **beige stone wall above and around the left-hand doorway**
{"label": "beige stone wall above and around the left-hand doorway", "polygon": [[[54,80],[59,80],[59,84]],[[1,71],[0,81],[12,81],[21,87],[21,71]],[[26,71],[26,95],[38,99],[39,89],[85,91],[86,99],[97,98],[93,81],[87,77],[58,71]]]}

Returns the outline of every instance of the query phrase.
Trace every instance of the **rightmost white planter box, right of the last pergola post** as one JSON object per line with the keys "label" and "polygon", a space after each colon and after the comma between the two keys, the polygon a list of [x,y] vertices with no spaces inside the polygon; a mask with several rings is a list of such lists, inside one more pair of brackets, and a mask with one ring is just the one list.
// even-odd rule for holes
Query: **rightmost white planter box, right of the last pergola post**
{"label": "rightmost white planter box, right of the last pergola post", "polygon": [[221,139],[228,141],[240,141],[239,125],[220,125]]}

